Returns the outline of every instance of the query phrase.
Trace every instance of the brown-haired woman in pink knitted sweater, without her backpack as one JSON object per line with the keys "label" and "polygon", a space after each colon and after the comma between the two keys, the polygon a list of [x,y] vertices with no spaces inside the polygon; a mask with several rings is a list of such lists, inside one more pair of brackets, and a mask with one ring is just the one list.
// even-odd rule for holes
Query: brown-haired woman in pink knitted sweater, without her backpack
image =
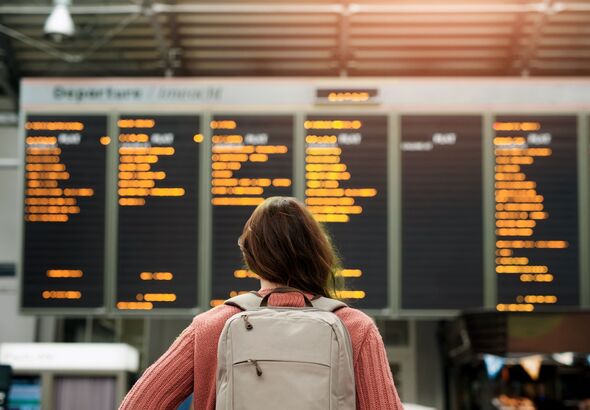
{"label": "brown-haired woman in pink knitted sweater, without her backpack", "polygon": [[[293,198],[273,197],[260,204],[238,241],[248,268],[260,278],[258,293],[289,286],[308,297],[330,297],[336,288],[338,258],[311,213]],[[304,306],[301,294],[272,293],[272,306]],[[215,408],[217,345],[225,322],[240,312],[222,305],[204,312],[150,366],[120,409],[175,409],[194,393],[195,410]],[[395,389],[379,330],[359,310],[335,314],[346,326],[353,348],[359,410],[403,409]]]}

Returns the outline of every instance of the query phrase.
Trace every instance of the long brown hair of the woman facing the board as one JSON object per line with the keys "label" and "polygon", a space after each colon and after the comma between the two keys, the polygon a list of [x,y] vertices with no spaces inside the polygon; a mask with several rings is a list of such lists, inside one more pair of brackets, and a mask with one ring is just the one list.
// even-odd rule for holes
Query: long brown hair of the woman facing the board
{"label": "long brown hair of the woman facing the board", "polygon": [[326,297],[339,288],[340,261],[330,238],[295,198],[258,205],[238,244],[248,269],[263,279]]}

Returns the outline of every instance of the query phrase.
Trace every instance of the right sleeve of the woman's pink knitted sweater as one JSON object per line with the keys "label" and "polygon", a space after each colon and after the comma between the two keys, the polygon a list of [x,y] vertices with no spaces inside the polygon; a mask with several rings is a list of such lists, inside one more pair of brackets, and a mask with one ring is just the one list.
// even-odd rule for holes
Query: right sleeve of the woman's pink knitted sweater
{"label": "right sleeve of the woman's pink knitted sweater", "polygon": [[369,327],[356,362],[358,410],[403,410],[397,394],[383,339],[374,324]]}

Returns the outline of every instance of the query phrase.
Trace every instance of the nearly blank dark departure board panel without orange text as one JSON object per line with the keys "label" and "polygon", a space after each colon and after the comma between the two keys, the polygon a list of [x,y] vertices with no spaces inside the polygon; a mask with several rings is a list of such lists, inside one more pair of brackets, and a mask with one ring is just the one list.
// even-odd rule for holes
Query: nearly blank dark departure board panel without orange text
{"label": "nearly blank dark departure board panel without orange text", "polygon": [[483,306],[482,118],[401,118],[402,309]]}

